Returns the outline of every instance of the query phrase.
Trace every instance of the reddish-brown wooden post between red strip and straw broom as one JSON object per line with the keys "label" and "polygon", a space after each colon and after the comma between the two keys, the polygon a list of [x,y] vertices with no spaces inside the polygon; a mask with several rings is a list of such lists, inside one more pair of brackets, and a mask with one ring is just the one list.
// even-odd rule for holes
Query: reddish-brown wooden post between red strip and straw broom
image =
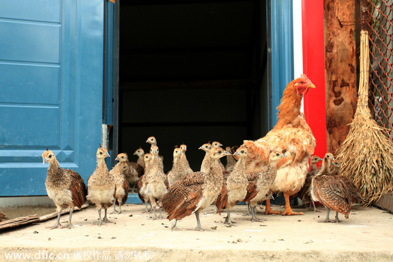
{"label": "reddish-brown wooden post between red strip and straw broom", "polygon": [[355,0],[324,0],[327,148],[345,140],[356,110]]}

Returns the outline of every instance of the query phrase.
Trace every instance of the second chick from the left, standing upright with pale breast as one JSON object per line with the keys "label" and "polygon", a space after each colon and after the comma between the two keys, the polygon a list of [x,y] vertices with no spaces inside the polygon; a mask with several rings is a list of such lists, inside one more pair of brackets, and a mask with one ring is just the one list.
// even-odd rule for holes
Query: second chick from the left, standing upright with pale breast
{"label": "second chick from the left, standing upright with pale breast", "polygon": [[[114,203],[114,194],[116,192],[116,183],[113,175],[109,173],[108,167],[105,164],[105,158],[109,156],[108,150],[104,147],[97,149],[97,167],[93,174],[87,180],[87,196],[86,199],[91,204],[95,204],[98,210],[99,223],[111,221],[107,218],[107,210]],[[101,219],[101,209],[104,208],[105,216]]]}

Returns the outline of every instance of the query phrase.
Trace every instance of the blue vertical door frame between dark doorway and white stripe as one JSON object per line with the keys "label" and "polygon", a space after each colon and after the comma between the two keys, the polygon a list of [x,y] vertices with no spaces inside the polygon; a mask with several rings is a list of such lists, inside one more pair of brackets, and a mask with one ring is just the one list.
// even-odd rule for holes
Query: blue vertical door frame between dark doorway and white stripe
{"label": "blue vertical door frame between dark doorway and white stripe", "polygon": [[[272,98],[272,123],[269,130],[277,123],[277,106],[280,105],[282,92],[286,85],[293,80],[293,29],[292,29],[292,0],[271,0],[270,13],[270,60],[268,76],[271,79],[268,88]],[[268,7],[269,7],[268,6]],[[301,18],[300,18],[301,19]],[[268,23],[268,24],[269,24]]]}

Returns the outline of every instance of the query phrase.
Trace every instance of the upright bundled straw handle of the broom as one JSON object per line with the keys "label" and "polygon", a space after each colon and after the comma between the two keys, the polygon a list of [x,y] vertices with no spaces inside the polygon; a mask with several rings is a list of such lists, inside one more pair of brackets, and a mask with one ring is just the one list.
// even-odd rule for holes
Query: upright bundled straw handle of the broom
{"label": "upright bundled straw handle of the broom", "polygon": [[360,33],[360,79],[358,91],[358,103],[356,115],[363,114],[365,118],[371,117],[368,108],[368,77],[370,68],[370,56],[368,47],[368,32],[362,30]]}

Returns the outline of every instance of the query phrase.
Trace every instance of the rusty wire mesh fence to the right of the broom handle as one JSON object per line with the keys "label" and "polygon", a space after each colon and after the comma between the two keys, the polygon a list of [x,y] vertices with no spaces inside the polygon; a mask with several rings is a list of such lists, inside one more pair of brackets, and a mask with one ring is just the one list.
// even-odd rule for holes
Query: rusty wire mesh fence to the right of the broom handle
{"label": "rusty wire mesh fence to the right of the broom handle", "polygon": [[393,141],[393,0],[367,0],[371,110]]}

